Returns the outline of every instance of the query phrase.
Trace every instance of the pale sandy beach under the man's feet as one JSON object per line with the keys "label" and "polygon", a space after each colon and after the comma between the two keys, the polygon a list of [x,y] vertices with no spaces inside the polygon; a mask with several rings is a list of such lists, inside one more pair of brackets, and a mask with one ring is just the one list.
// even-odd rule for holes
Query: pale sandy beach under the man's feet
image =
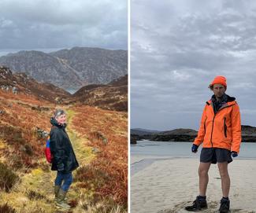
{"label": "pale sandy beach under the man's feet", "polygon": [[[143,161],[150,163],[144,163],[131,174],[131,213],[187,212],[184,207],[198,195],[199,160],[131,156],[132,165]],[[256,160],[237,158],[229,164],[231,213],[256,212],[255,168]],[[212,164],[209,176],[206,193],[209,207],[200,212],[218,212],[220,205],[221,179],[217,165]]]}

